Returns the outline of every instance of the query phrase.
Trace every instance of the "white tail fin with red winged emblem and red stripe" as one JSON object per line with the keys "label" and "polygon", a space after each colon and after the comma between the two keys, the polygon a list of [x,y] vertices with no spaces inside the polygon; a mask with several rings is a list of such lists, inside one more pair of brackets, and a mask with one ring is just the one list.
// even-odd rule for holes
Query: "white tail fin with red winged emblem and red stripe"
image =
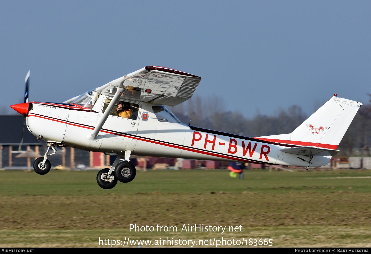
{"label": "white tail fin with red winged emblem and red stripe", "polygon": [[361,106],[361,102],[334,95],[292,133],[257,137],[257,139],[336,149]]}

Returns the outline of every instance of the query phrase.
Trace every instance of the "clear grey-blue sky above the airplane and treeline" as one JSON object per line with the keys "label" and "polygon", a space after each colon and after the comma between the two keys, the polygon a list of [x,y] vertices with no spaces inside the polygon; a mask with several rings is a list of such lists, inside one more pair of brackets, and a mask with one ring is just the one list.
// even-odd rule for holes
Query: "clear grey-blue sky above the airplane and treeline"
{"label": "clear grey-blue sky above the airplane and treeline", "polygon": [[247,117],[368,103],[370,1],[0,1],[0,105],[62,102],[146,65]]}

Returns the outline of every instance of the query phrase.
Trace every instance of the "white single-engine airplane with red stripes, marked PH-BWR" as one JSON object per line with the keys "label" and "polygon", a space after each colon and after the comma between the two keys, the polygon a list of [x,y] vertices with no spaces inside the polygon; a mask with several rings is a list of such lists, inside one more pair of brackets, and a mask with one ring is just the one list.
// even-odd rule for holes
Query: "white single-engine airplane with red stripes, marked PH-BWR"
{"label": "white single-engine airplane with red stripes, marked PH-BWR", "polygon": [[131,155],[324,166],[339,152],[336,148],[362,106],[335,94],[292,133],[249,138],[183,124],[163,106],[192,97],[201,77],[185,72],[146,66],[63,103],[28,102],[28,77],[24,103],[10,107],[24,115],[34,136],[47,142],[45,155],[33,164],[36,173],[49,172],[47,157],[58,146],[117,155],[111,168],[97,175],[104,189],[134,179]]}

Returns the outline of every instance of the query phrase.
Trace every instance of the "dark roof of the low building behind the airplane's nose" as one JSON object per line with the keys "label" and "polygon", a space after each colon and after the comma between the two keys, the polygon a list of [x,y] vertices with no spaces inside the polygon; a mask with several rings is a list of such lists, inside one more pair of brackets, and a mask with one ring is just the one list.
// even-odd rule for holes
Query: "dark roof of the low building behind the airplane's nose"
{"label": "dark roof of the low building behind the airplane's nose", "polygon": [[[22,139],[22,115],[0,115],[0,144],[19,144]],[[24,127],[23,144],[40,144],[39,141]]]}

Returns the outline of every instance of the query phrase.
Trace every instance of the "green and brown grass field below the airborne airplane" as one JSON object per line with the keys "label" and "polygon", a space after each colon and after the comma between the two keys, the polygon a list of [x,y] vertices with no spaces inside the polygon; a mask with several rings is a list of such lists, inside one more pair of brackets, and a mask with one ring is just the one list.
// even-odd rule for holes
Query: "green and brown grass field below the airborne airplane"
{"label": "green and brown grass field below the airborne airplane", "polygon": [[[96,184],[96,173],[0,171],[0,247],[102,247],[99,237],[371,247],[371,170],[245,170],[244,180],[227,170],[149,171],[111,190]],[[156,232],[158,223],[177,232]],[[155,230],[129,232],[129,224]],[[242,231],[181,232],[184,224]]]}

